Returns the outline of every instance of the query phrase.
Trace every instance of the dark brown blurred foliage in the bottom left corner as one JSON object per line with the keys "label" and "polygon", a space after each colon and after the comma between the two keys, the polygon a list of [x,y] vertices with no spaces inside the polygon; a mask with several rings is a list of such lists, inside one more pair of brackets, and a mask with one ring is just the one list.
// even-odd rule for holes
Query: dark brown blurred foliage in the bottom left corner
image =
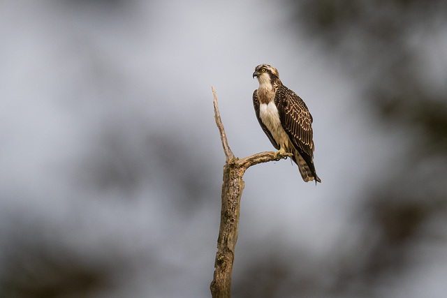
{"label": "dark brown blurred foliage in the bottom left corner", "polygon": [[42,230],[40,224],[25,228],[21,219],[12,221],[15,230],[1,230],[10,236],[1,235],[8,242],[1,245],[0,297],[95,297],[111,287],[111,268],[105,262],[93,262],[62,244],[64,235],[55,229]]}

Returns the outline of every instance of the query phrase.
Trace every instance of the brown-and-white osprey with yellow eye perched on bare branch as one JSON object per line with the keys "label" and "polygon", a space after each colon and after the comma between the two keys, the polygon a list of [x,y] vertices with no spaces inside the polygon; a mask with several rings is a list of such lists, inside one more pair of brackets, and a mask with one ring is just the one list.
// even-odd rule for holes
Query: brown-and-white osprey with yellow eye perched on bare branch
{"label": "brown-and-white osprey with yellow eye perched on bare branch", "polygon": [[302,179],[321,182],[316,175],[312,115],[305,102],[279,80],[278,70],[268,64],[256,66],[259,88],[253,93],[253,105],[259,124],[278,154],[293,154]]}

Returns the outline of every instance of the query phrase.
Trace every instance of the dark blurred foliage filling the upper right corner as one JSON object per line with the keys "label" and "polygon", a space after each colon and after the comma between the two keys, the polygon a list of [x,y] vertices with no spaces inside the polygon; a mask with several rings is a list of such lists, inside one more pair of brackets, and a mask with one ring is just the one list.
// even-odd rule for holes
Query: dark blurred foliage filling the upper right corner
{"label": "dark blurred foliage filling the upper right corner", "polygon": [[418,128],[412,137],[424,149],[447,147],[447,72],[432,74],[441,77],[437,90],[423,77],[432,72],[427,53],[447,63],[437,50],[447,25],[446,1],[319,0],[293,6],[295,24],[342,59],[340,67],[363,86],[380,117]]}

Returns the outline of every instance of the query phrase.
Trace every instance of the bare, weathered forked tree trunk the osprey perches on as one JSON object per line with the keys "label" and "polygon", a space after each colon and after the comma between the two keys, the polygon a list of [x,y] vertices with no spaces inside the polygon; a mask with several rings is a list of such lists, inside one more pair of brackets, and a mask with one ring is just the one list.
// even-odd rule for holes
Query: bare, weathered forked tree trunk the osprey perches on
{"label": "bare, weathered forked tree trunk the osprey perches on", "polygon": [[240,198],[244,190],[242,177],[251,165],[278,161],[287,158],[291,154],[279,154],[276,158],[274,152],[261,152],[245,158],[237,158],[228,145],[225,130],[219,114],[217,96],[214,87],[214,119],[221,135],[223,151],[226,156],[226,163],[223,166],[222,184],[222,207],[221,225],[219,237],[217,239],[217,253],[214,262],[214,279],[210,285],[213,298],[231,297],[231,274],[233,271],[233,260],[235,257],[235,246],[237,241],[237,229],[239,225]]}

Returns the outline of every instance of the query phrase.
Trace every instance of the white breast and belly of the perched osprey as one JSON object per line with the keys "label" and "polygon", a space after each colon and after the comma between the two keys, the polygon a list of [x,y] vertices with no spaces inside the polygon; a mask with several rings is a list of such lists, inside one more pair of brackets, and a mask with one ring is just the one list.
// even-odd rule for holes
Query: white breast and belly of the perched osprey
{"label": "white breast and belly of the perched osprey", "polygon": [[268,130],[272,134],[272,137],[277,142],[279,147],[288,147],[288,135],[281,126],[278,109],[277,106],[274,105],[273,101],[270,101],[270,103],[268,104],[261,103],[261,105],[259,106],[259,117],[263,121],[263,124],[267,126]]}

